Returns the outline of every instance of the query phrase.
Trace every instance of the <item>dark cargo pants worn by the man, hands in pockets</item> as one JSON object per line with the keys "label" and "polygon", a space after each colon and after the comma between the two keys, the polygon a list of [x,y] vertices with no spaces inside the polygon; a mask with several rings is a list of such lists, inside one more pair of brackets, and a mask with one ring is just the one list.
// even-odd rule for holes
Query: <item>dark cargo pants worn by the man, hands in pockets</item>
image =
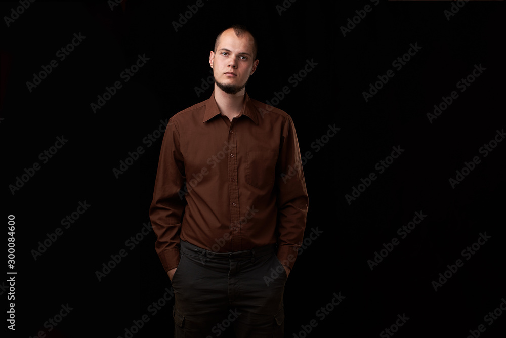
{"label": "dark cargo pants worn by the man, hands in pockets", "polygon": [[181,241],[172,279],[175,337],[283,336],[286,272],[275,245],[218,253]]}

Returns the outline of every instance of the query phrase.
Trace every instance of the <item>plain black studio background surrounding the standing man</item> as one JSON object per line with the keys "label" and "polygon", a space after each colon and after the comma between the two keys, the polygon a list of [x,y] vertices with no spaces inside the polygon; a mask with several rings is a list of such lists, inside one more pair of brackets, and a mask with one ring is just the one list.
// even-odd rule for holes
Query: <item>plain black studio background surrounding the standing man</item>
{"label": "plain black studio background surrounding the standing man", "polygon": [[[271,101],[288,86],[276,106],[292,116],[301,152],[313,155],[304,165],[305,237],[312,228],[323,233],[287,281],[285,336],[305,336],[301,325],[312,319],[317,325],[308,336],[378,336],[399,314],[409,320],[397,337],[466,337],[480,324],[484,337],[503,336],[506,314],[492,325],[484,316],[506,297],[506,144],[486,157],[479,153],[506,124],[503,2],[460,3],[449,20],[444,11],[451,2],[299,0],[281,15],[281,0],[203,4],[177,31],[172,22],[195,2],[126,1],[111,9],[107,2],[36,1],[9,27],[3,20],[3,243],[7,216],[16,217],[15,269],[5,267],[17,272],[16,331],[7,330],[9,336],[43,330],[48,337],[124,337],[145,314],[149,321],[134,336],[172,336],[174,299],[156,315],[148,311],[171,288],[154,233],[132,250],[125,244],[149,222],[161,137],[150,147],[143,138],[160,120],[209,97],[212,89],[198,96],[195,87],[209,75],[217,33],[234,23],[259,40],[248,94]],[[372,10],[343,36],[340,27],[366,4]],[[2,17],[18,6],[3,2]],[[86,38],[60,61],[56,52],[79,32]],[[392,62],[410,44],[421,49],[397,70]],[[123,82],[120,73],[139,54],[149,60]],[[30,92],[26,82],[53,59],[58,66]],[[306,60],[317,65],[292,87],[289,77]],[[475,65],[486,69],[460,92],[456,83]],[[362,92],[389,69],[395,75],[366,102]],[[90,104],[117,80],[123,87],[94,113]],[[458,98],[431,123],[426,114],[452,91]],[[329,124],[341,130],[316,151],[311,145]],[[43,164],[39,154],[62,135],[68,142]],[[139,146],[145,152],[116,178],[113,168]],[[375,164],[394,146],[404,152],[378,174]],[[449,179],[474,156],[481,162],[452,188]],[[34,162],[40,170],[11,193],[9,185]],[[349,204],[345,195],[371,172],[377,179]],[[63,228],[62,218],[79,201],[91,206],[35,260],[32,250]],[[415,212],[427,217],[371,271],[367,260],[399,239],[397,229]],[[465,260],[461,251],[485,232],[491,238]],[[99,281],[96,271],[121,249],[128,255]],[[435,291],[432,281],[457,259],[465,263]],[[7,283],[0,285],[7,304]],[[346,298],[321,320],[315,313],[334,292]],[[67,303],[72,310],[49,331],[45,322]]]}

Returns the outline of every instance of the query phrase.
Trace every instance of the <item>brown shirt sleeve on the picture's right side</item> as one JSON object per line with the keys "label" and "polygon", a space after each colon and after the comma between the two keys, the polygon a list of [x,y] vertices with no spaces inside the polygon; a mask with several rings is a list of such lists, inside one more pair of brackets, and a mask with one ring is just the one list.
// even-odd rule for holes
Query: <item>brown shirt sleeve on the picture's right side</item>
{"label": "brown shirt sleeve on the picture's right side", "polygon": [[279,233],[277,257],[283,265],[291,269],[304,239],[309,199],[299,141],[290,116],[287,117],[283,127],[276,185]]}

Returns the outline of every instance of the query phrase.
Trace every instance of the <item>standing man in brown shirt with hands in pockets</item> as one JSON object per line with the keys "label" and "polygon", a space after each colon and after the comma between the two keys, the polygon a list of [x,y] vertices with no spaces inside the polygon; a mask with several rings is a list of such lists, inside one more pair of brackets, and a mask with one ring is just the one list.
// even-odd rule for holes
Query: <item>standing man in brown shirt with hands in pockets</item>
{"label": "standing man in brown shirt with hands in pockets", "polygon": [[308,195],[290,116],[245,93],[256,55],[245,27],[222,31],[209,54],[213,94],[174,115],[163,136],[150,218],[176,337],[229,326],[237,337],[283,335]]}

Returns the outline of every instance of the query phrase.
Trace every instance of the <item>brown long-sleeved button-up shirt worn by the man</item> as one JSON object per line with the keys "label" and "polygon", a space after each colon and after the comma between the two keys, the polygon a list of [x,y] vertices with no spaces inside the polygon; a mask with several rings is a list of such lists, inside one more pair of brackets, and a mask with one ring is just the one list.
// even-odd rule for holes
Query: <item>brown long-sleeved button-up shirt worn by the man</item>
{"label": "brown long-sleeved button-up shirt worn by the man", "polygon": [[214,252],[277,243],[289,268],[302,244],[308,194],[291,117],[251,100],[232,122],[211,97],[165,130],[150,219],[165,271],[180,240]]}

